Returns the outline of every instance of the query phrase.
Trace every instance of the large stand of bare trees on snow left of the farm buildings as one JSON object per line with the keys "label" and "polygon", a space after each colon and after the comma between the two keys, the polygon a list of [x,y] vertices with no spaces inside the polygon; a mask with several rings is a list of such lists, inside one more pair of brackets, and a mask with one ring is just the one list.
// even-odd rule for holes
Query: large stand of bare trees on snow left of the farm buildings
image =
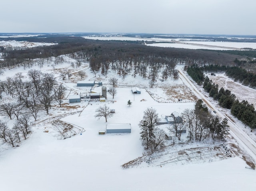
{"label": "large stand of bare trees on snow left of the farm buildings", "polygon": [[36,120],[41,110],[49,114],[54,102],[61,107],[66,90],[63,84],[57,83],[52,73],[30,70],[29,80],[24,79],[21,73],[16,73],[14,77],[0,81],[0,98],[2,99],[3,93],[12,98],[0,104],[0,114],[8,116],[10,120],[16,117],[17,120],[12,128],[0,121],[0,138],[12,146],[15,142],[20,142],[21,136],[26,139],[31,132],[31,117]]}

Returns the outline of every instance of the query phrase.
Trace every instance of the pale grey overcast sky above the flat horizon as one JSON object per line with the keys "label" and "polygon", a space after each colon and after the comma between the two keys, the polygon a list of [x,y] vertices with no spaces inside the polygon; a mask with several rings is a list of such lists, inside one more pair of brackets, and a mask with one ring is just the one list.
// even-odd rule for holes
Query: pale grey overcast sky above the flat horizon
{"label": "pale grey overcast sky above the flat horizon", "polygon": [[3,0],[0,33],[256,35],[256,0]]}

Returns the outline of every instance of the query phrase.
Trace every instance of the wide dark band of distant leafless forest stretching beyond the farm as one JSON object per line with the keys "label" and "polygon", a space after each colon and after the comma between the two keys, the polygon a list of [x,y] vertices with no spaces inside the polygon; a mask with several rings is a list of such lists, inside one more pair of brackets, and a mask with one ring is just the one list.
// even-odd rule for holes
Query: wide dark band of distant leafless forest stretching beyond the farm
{"label": "wide dark band of distant leafless forest stretching beyond the farm", "polygon": [[[71,54],[76,52],[83,52],[87,58],[100,56],[114,57],[113,55],[125,54],[126,57],[168,57],[175,63],[184,62],[187,65],[191,64],[218,64],[226,65],[227,63],[233,63],[236,55],[230,55],[226,53],[218,53],[215,51],[203,51],[193,49],[177,49],[177,48],[163,48],[163,47],[150,47],[145,46],[144,41],[99,41],[84,39],[82,37],[68,37],[53,35],[38,37],[23,37],[19,40],[28,40],[34,42],[48,42],[58,43],[57,45],[34,47],[30,49],[22,50],[7,50],[1,49],[3,57],[2,66],[8,67],[10,64],[17,65],[24,60],[31,60],[36,58],[57,57],[63,54]],[[18,40],[16,39],[16,40]],[[4,39],[3,39],[4,40]],[[10,39],[8,39],[10,40]],[[238,57],[240,58],[240,57]]]}

